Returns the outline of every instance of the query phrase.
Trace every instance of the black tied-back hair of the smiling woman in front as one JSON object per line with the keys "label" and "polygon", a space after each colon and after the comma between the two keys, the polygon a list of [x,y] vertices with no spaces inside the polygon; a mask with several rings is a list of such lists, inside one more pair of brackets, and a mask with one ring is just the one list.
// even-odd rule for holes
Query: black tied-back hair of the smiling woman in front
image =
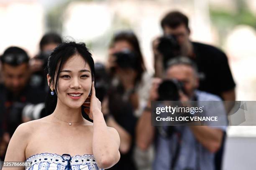
{"label": "black tied-back hair of the smiling woman in front", "polygon": [[[59,86],[59,74],[63,67],[63,65],[67,62],[67,60],[76,55],[81,55],[85,62],[89,64],[91,68],[92,81],[95,82],[95,68],[94,61],[92,59],[92,54],[89,52],[84,43],[76,43],[76,42],[63,42],[59,44],[50,54],[48,59],[48,64],[46,67],[46,71],[51,77],[50,85],[54,85],[54,92],[57,93],[57,89]],[[54,77],[56,79],[54,80]],[[57,94],[51,95],[51,89],[49,87],[48,94],[46,97],[46,114],[49,115],[54,112],[57,104]]]}

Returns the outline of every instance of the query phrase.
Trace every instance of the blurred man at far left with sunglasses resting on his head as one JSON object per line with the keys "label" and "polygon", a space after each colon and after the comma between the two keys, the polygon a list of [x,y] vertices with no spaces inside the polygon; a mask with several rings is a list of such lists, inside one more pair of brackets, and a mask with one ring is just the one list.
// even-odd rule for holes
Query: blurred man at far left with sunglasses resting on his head
{"label": "blurred man at far left with sunglasses resting on his head", "polygon": [[[3,124],[3,140],[0,158],[4,158],[6,147],[15,129],[22,122],[24,107],[28,104],[44,102],[44,92],[28,84],[30,78],[29,57],[25,50],[19,47],[7,48],[0,56],[3,84],[0,84],[0,117]],[[39,112],[39,111],[38,111]]]}

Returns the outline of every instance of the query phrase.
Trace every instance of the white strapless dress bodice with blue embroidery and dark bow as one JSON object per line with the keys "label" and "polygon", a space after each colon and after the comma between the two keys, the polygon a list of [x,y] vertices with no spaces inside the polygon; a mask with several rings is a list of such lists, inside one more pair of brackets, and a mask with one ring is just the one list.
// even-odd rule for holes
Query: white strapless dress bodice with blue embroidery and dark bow
{"label": "white strapless dress bodice with blue embroidery and dark bow", "polygon": [[71,157],[69,154],[61,156],[41,153],[29,157],[26,161],[32,164],[26,170],[103,170],[98,168],[93,155]]}

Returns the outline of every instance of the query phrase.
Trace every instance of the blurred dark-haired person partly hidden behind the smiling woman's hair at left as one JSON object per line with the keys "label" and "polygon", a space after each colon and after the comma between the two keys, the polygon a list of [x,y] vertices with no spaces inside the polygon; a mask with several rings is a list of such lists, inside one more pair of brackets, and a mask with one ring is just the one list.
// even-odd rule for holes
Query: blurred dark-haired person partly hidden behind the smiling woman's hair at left
{"label": "blurred dark-haired person partly hidden behind the smiling woman's hair at left", "polygon": [[45,67],[51,51],[62,42],[60,35],[54,32],[46,33],[40,40],[40,52],[30,60],[31,86],[41,88],[47,92]]}

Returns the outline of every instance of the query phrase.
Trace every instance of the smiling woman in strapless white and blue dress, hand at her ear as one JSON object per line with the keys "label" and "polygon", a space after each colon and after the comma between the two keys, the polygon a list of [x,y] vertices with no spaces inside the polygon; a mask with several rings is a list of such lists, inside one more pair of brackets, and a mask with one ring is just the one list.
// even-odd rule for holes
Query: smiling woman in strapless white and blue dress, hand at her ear
{"label": "smiling woman in strapless white and blue dress, hand at her ear", "polygon": [[[102,115],[95,96],[94,62],[85,44],[62,43],[51,53],[47,68],[50,115],[16,129],[5,161],[31,161],[27,170],[98,170],[115,165],[120,138]],[[93,123],[82,117],[82,105]]]}

